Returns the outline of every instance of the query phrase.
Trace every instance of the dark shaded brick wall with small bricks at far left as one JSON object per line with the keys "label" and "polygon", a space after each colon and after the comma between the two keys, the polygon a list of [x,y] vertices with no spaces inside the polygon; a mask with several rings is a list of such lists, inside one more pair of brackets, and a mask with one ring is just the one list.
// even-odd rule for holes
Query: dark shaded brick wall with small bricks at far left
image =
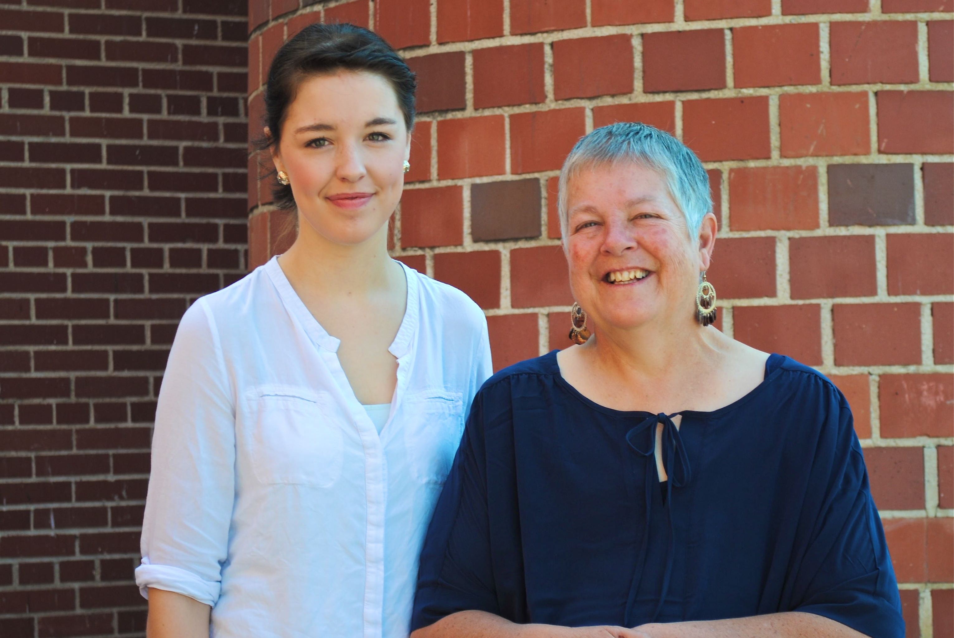
{"label": "dark shaded brick wall with small bricks at far left", "polygon": [[244,0],[0,2],[4,638],[143,633],[169,344],[246,271],[247,33]]}

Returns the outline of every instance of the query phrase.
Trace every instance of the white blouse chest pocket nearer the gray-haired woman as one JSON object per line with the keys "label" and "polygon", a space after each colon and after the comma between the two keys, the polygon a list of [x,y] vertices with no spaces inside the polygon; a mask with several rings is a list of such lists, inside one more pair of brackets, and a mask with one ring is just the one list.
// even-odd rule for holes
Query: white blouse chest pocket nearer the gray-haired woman
{"label": "white blouse chest pocket nearer the gray-haired woman", "polygon": [[414,415],[404,427],[411,475],[421,483],[444,484],[464,433],[463,396],[440,390],[405,401]]}

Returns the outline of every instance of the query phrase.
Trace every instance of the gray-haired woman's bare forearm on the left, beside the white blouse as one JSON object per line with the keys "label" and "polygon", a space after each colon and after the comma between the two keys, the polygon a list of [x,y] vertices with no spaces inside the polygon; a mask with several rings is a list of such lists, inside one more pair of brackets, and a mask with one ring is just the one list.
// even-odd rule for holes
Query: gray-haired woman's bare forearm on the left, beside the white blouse
{"label": "gray-haired woman's bare forearm on the left, beside the white blouse", "polygon": [[650,638],[621,627],[517,625],[487,611],[458,611],[411,633],[411,638]]}

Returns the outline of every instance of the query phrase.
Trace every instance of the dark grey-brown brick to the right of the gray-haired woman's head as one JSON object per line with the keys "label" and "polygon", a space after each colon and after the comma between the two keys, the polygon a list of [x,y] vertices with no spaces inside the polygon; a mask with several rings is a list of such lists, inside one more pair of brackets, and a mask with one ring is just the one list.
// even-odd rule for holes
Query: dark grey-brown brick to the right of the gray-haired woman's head
{"label": "dark grey-brown brick to the right of the gray-haired woman's head", "polygon": [[828,221],[833,226],[913,224],[911,164],[830,164]]}

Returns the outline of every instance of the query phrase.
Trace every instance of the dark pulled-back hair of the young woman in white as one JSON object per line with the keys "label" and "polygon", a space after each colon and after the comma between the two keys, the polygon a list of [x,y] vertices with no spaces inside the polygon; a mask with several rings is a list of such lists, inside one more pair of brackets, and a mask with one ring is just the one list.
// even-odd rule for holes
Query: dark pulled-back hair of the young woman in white
{"label": "dark pulled-back hair of the young woman in white", "polygon": [[[377,73],[394,88],[404,113],[408,133],[414,126],[414,93],[417,80],[396,51],[377,33],[352,24],[309,25],[299,31],[275,55],[265,85],[263,124],[271,132],[255,143],[259,151],[278,146],[281,125],[288,106],[295,100],[301,81],[316,74],[339,70]],[[275,175],[273,170],[264,177]],[[295,208],[291,186],[274,181],[272,196],[280,209]]]}

